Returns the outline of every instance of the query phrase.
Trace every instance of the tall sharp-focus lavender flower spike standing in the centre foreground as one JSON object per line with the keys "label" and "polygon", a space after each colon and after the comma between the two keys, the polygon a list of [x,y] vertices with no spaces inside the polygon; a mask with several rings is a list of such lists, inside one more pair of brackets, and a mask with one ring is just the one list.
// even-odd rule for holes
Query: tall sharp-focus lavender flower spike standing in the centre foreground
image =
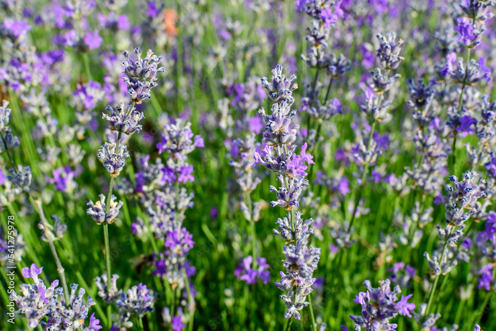
{"label": "tall sharp-focus lavender flower spike standing in the centre foreground", "polygon": [[[265,114],[264,109],[259,113],[265,121],[265,132],[263,132],[263,149],[256,147],[254,158],[256,164],[278,173],[277,178],[281,183],[280,189],[271,186],[271,192],[276,193],[277,200],[271,201],[272,206],[281,206],[290,211],[288,217],[279,219],[278,230],[274,230],[275,235],[279,235],[286,242],[295,241],[284,247],[286,260],[283,265],[286,272],[281,271],[281,281],[275,285],[287,295],[282,295],[286,307],[288,308],[285,318],[295,317],[300,320],[299,313],[303,307],[309,304],[306,301],[307,295],[312,291],[311,285],[315,281],[312,278],[313,270],[317,267],[320,257],[320,249],[308,245],[308,238],[312,233],[310,218],[303,221],[301,212],[295,213],[298,207],[299,196],[302,188],[309,184],[305,179],[307,164],[312,164],[312,156],[306,153],[307,143],[301,148],[301,155],[296,155],[296,145],[292,143],[296,140],[296,131],[299,126],[290,128],[291,119],[296,115],[296,110],[291,110],[294,98],[292,91],[297,88],[292,81],[296,75],[289,79],[282,73],[282,66],[276,66],[272,70],[272,82],[267,78],[262,78],[262,85],[267,89],[268,96],[274,101],[272,114]],[[276,152],[276,155],[273,152]]]}

